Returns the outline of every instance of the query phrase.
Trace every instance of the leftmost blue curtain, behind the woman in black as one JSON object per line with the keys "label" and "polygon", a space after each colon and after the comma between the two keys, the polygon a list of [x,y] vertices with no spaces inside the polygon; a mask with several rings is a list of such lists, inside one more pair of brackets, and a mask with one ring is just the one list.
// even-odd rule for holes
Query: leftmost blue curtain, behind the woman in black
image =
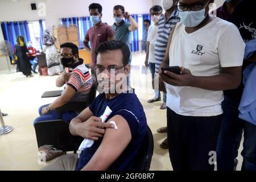
{"label": "leftmost blue curtain, behind the woman in black", "polygon": [[[30,31],[28,28],[28,22],[1,22],[1,28],[3,32],[3,38],[11,43],[11,47],[14,49],[17,36],[23,36],[24,42],[30,40]],[[11,55],[11,59],[13,56]]]}

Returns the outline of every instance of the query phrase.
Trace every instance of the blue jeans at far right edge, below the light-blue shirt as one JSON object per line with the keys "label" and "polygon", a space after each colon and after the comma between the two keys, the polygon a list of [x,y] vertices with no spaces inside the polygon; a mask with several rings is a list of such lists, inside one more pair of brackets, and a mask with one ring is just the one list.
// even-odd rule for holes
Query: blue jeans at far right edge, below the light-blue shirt
{"label": "blue jeans at far right edge, below the light-blue shirt", "polygon": [[242,171],[256,171],[256,126],[247,121],[243,126]]}

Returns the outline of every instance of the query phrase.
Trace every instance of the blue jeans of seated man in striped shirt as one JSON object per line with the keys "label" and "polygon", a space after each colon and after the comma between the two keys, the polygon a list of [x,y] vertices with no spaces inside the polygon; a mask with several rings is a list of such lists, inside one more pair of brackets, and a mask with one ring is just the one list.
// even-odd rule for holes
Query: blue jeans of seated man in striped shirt
{"label": "blue jeans of seated man in striped shirt", "polygon": [[77,114],[74,111],[65,111],[65,112],[63,112],[63,114],[61,115],[61,118],[60,118],[59,113],[55,109],[49,111],[48,114],[42,115],[43,107],[47,107],[48,105],[49,104],[39,107],[38,112],[39,112],[40,116],[35,119],[34,125],[35,125],[35,123],[37,123],[39,121],[52,121],[52,120],[57,120],[57,119],[62,119],[63,121],[70,122],[73,118],[77,117]]}

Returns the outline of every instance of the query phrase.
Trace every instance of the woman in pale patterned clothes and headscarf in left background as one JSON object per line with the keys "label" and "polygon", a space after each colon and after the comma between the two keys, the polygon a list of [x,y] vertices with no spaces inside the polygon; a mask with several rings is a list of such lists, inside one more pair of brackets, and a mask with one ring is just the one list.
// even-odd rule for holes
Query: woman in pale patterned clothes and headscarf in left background
{"label": "woman in pale patterned clothes and headscarf in left background", "polygon": [[46,63],[48,67],[48,75],[56,75],[64,71],[63,66],[60,64],[59,53],[55,46],[56,38],[50,35],[49,30],[44,31],[43,37],[43,52],[46,54]]}

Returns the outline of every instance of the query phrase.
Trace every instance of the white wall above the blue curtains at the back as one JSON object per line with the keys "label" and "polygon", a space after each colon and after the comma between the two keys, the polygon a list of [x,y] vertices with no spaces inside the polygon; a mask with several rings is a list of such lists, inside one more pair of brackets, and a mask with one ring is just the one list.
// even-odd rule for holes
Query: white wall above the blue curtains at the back
{"label": "white wall above the blue curtains at the back", "polygon": [[[126,11],[131,14],[148,13],[152,6],[151,0],[1,0],[0,21],[46,19],[46,27],[57,26],[59,18],[88,16],[88,6],[93,2],[101,4],[103,7],[102,20],[108,24],[113,23],[114,5],[125,6]],[[38,9],[32,11],[30,3],[36,3]],[[44,7],[46,7],[45,14]]]}

